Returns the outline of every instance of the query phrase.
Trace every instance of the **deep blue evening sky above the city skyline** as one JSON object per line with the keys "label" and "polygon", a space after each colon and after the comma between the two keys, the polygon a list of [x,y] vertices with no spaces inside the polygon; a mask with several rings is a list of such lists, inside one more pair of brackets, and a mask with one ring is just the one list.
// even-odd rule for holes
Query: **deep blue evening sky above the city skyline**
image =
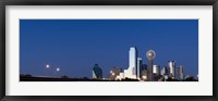
{"label": "deep blue evening sky above the city skyline", "polygon": [[90,78],[97,63],[107,76],[113,66],[128,68],[132,46],[145,64],[154,49],[161,68],[173,60],[198,74],[197,20],[20,20],[22,74]]}

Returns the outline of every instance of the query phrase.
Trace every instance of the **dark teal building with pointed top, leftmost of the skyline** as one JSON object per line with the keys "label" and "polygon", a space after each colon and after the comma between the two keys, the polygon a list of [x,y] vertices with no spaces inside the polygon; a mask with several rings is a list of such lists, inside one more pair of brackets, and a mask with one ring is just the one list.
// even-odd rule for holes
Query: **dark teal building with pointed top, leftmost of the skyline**
{"label": "dark teal building with pointed top, leftmost of the skyline", "polygon": [[93,67],[93,78],[102,78],[102,70],[95,64]]}

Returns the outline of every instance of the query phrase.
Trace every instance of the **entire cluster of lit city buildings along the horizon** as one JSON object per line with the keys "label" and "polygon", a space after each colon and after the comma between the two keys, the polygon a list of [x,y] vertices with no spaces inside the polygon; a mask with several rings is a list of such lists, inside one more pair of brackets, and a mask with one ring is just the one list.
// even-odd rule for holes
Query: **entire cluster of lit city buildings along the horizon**
{"label": "entire cluster of lit city buildings along the horizon", "polygon": [[[93,68],[93,79],[109,79],[109,80],[130,80],[136,79],[140,81],[184,81],[191,79],[198,79],[193,75],[185,75],[182,65],[175,65],[175,61],[168,61],[168,66],[160,68],[160,65],[153,64],[156,56],[155,50],[148,50],[146,56],[148,65],[142,62],[142,58],[137,54],[136,47],[131,47],[129,51],[129,67],[113,67],[110,75],[104,78],[102,70],[95,64]],[[167,67],[167,68],[166,68]],[[161,70],[161,74],[160,74]]]}

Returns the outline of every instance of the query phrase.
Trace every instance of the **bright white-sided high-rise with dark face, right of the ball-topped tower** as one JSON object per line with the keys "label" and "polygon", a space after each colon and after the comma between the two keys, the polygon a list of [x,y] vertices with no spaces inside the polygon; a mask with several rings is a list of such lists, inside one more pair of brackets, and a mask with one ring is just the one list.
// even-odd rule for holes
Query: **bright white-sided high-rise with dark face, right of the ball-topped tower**
{"label": "bright white-sided high-rise with dark face, right of the ball-topped tower", "polygon": [[168,61],[169,76],[175,78],[175,61]]}

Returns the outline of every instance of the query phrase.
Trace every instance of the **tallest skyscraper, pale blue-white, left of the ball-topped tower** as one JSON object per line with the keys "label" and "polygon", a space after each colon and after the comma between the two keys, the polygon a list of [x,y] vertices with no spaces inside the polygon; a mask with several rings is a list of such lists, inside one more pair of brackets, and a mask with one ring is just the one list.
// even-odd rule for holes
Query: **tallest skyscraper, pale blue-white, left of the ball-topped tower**
{"label": "tallest skyscraper, pale blue-white, left of the ball-topped tower", "polygon": [[129,51],[129,68],[124,70],[124,77],[136,79],[137,49],[131,47]]}

